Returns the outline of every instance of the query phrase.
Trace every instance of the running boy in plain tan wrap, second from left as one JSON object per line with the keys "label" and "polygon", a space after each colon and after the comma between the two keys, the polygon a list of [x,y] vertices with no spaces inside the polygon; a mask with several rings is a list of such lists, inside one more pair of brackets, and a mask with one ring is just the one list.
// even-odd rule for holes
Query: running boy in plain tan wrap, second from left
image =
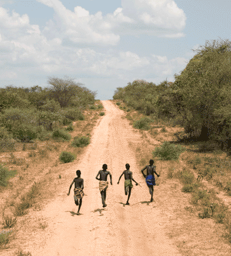
{"label": "running boy in plain tan wrap, second from left", "polygon": [[[99,176],[100,175],[100,176]],[[99,180],[99,191],[102,198],[103,207],[106,207],[106,190],[108,188],[108,181],[107,181],[107,175],[110,175],[111,180],[111,173],[110,171],[107,171],[107,164],[103,164],[103,170],[100,170],[98,174],[96,175],[96,180]],[[99,178],[98,178],[99,176]],[[112,182],[111,182],[112,185]]]}

